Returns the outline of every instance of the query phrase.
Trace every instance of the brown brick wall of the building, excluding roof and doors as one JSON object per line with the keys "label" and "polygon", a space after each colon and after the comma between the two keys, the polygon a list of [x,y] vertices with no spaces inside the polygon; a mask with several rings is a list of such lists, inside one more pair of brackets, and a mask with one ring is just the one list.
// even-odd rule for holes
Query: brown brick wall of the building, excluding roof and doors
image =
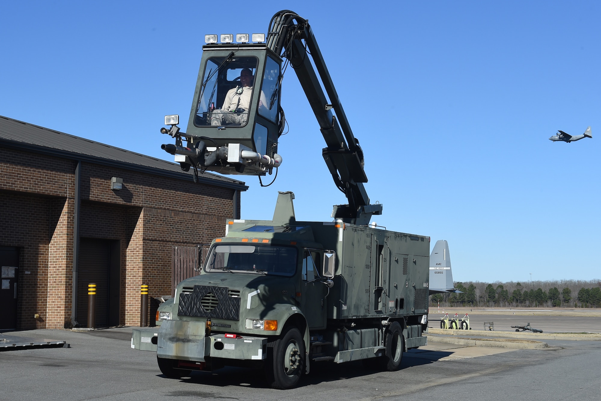
{"label": "brown brick wall of the building, excluding roof and doors", "polygon": [[[0,245],[20,248],[19,328],[70,326],[75,167],[0,148]],[[110,189],[113,176],[123,178],[122,190]],[[171,293],[172,246],[225,235],[233,196],[233,189],[82,163],[79,234],[120,241],[121,324],[139,324],[141,284],[150,296]],[[239,216],[239,192],[236,205]]]}

